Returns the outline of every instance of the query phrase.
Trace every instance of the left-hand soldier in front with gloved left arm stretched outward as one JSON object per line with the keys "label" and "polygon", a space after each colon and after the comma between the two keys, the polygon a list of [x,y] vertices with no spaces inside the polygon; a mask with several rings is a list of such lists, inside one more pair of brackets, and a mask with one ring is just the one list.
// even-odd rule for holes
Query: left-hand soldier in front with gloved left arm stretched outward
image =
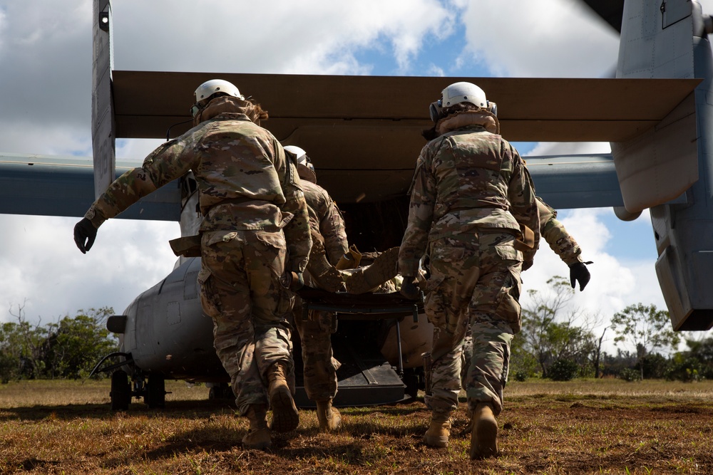
{"label": "left-hand soldier in front with gloved left arm stretched outward", "polygon": [[294,163],[260,127],[267,112],[235,85],[202,83],[191,113],[194,127],[116,179],[76,224],[74,240],[86,253],[103,221],[193,170],[203,215],[202,308],[213,320],[215,350],[238,411],[250,420],[242,442],[264,449],[272,445],[270,429],[289,432],[299,424],[285,379],[294,365],[287,323],[292,298],[280,278],[299,277],[307,266],[307,204]]}

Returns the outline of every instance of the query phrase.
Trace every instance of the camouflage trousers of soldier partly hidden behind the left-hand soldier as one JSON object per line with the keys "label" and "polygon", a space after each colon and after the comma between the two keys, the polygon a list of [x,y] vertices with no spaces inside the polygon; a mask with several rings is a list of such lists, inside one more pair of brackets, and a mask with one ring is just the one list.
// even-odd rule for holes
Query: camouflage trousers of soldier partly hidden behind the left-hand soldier
{"label": "camouflage trousers of soldier partly hidden behind the left-hand soldier", "polygon": [[294,304],[294,323],[302,344],[304,391],[312,401],[326,401],[337,395],[337,370],[340,363],[332,353],[334,313],[309,310],[307,318],[302,301]]}

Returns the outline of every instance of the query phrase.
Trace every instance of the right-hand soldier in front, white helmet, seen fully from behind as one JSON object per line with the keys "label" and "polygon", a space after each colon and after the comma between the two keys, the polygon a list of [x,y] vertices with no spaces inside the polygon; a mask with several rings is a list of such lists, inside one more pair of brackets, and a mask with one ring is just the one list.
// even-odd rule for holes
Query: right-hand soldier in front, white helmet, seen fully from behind
{"label": "right-hand soldier in front, white helmet, seen fully from behind", "polygon": [[427,253],[424,309],[435,327],[426,357],[429,446],[448,444],[468,323],[478,335],[466,383],[470,456],[476,459],[498,450],[496,416],[503,409],[511,341],[520,330],[520,271],[532,265],[538,246],[538,209],[525,163],[499,135],[496,105],[481,88],[449,85],[431,104],[431,119],[436,138],[416,162],[399,251],[401,293],[416,295],[414,276]]}

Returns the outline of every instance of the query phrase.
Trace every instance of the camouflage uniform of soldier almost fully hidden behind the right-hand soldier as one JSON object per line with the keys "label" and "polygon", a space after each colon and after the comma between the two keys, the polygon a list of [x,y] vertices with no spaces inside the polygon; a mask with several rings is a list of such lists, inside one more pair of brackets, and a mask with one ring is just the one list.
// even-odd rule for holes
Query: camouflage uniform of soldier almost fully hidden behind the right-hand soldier
{"label": "camouflage uniform of soldier almost fully hidden behind the right-hand soldier", "polygon": [[[543,202],[540,197],[537,197],[537,207],[540,213],[541,238],[550,245],[555,254],[560,256],[560,259],[568,266],[575,262],[582,262],[583,260],[580,257],[582,249],[567,232],[565,226],[556,219],[557,212],[555,209]],[[471,364],[471,357],[473,357],[473,335],[468,330],[463,341],[463,354],[461,355],[461,384],[463,387],[466,385],[466,375]]]}

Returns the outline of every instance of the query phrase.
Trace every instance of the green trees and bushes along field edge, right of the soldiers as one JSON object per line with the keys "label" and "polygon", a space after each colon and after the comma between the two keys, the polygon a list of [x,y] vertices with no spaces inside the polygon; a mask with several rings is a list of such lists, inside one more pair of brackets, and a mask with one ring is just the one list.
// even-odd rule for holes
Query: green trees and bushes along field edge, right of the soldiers
{"label": "green trees and bushes along field edge, right of the soldiers", "polygon": [[[601,315],[568,306],[574,296],[560,276],[549,291],[530,291],[523,307],[523,329],[511,348],[511,377],[566,381],[575,377],[620,377],[622,380],[697,381],[713,378],[713,338],[696,340],[671,328],[669,314],[655,305],[637,303],[615,313],[601,333]],[[602,351],[607,332],[616,353]],[[682,340],[686,350],[679,350]],[[635,348],[631,352],[620,345]]]}

